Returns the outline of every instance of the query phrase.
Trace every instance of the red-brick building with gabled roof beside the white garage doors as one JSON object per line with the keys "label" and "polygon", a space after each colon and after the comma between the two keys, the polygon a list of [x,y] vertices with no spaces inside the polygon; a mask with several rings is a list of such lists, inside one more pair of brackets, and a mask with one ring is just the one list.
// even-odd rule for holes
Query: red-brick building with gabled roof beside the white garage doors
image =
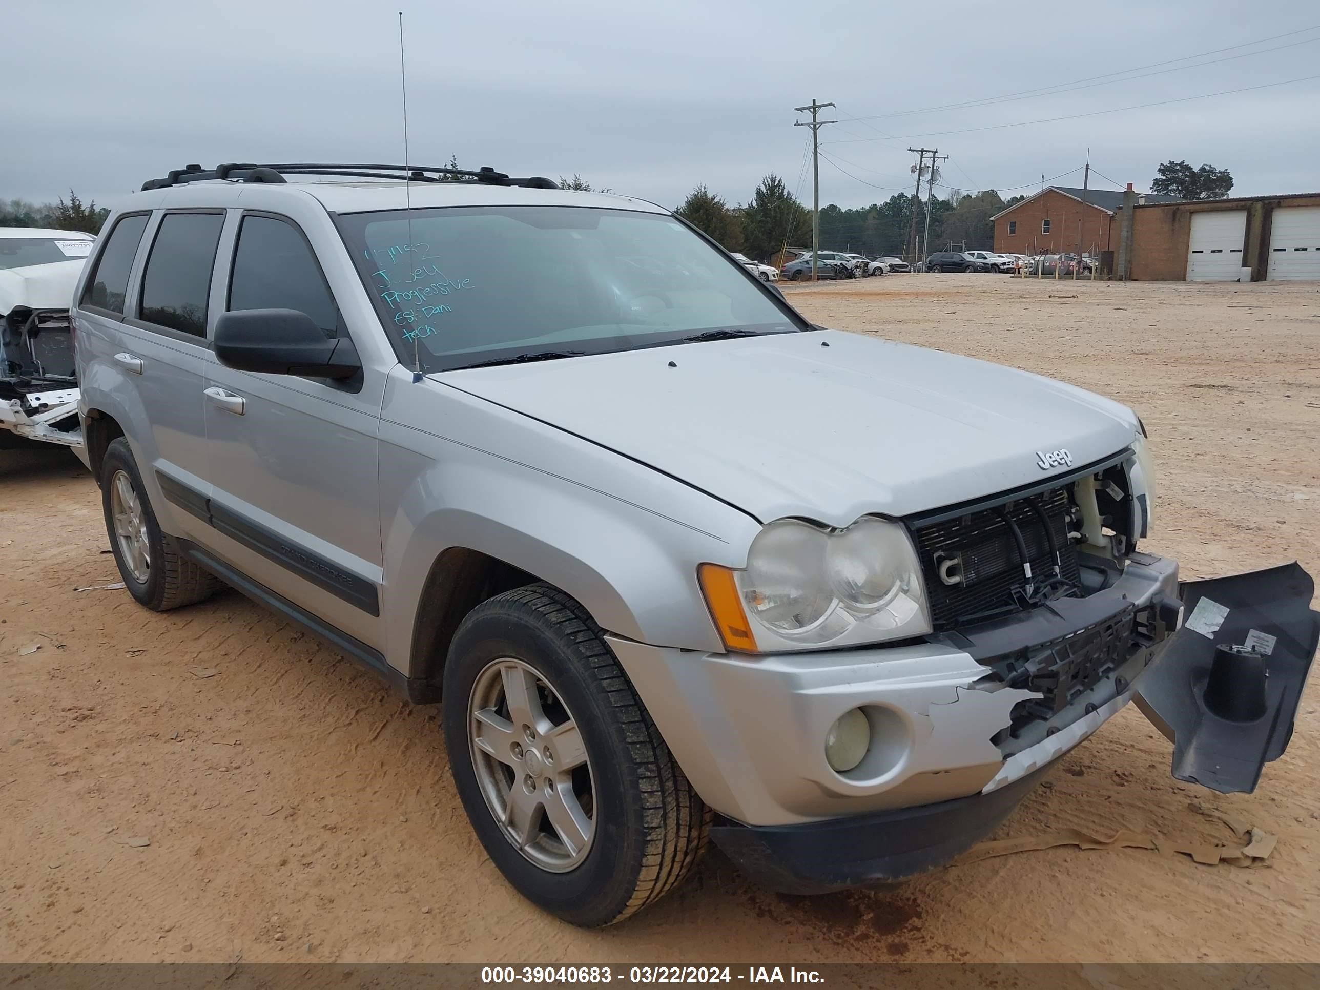
{"label": "red-brick building with gabled roof beside the white garage doors", "polygon": [[[1177,197],[1144,194],[1138,201],[1168,203]],[[1118,191],[1045,186],[991,216],[994,249],[1014,255],[1117,251],[1115,216],[1122,205]]]}

